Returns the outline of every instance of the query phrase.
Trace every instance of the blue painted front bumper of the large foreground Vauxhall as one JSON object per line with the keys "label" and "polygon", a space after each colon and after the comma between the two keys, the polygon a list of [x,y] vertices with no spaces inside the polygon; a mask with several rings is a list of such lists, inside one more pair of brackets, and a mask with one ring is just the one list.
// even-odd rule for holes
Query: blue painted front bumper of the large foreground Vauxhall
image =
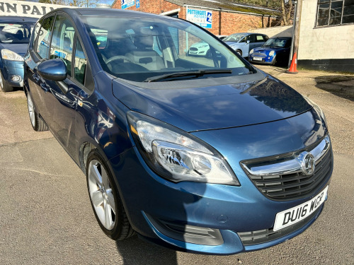
{"label": "blue painted front bumper of the large foreground Vauxhall", "polygon": [[[275,128],[286,124],[304,122],[306,117],[302,117],[303,115],[268,124],[214,131],[214,133],[219,134],[220,139],[226,141],[227,137],[222,135],[223,131],[227,132],[234,141],[241,137],[244,146],[254,142],[254,134],[251,128],[263,132],[263,146],[259,146],[263,153],[256,152],[251,155],[249,153],[247,156],[247,152],[254,150],[244,148],[244,146],[239,146],[239,148],[228,147],[231,153],[237,153],[233,158],[228,151],[221,152],[228,158],[229,164],[241,182],[241,187],[198,182],[169,182],[156,175],[147,166],[137,147],[111,159],[110,165],[115,173],[118,191],[133,229],[145,239],[156,244],[180,251],[204,254],[236,254],[263,249],[289,240],[306,230],[318,218],[323,206],[312,216],[309,216],[306,221],[280,230],[280,234],[270,237],[270,240],[258,241],[255,244],[244,242],[244,235],[260,230],[271,230],[277,213],[312,199],[329,184],[331,174],[320,187],[316,187],[316,190],[306,197],[291,201],[274,201],[265,197],[257,189],[239,164],[242,160],[239,157],[253,159],[256,158],[256,155],[269,155],[264,152],[273,153],[278,150],[279,153],[286,153],[304,148],[309,143],[309,139],[302,137],[304,134],[301,132],[304,131],[297,130],[293,134],[289,133],[284,136],[284,131],[275,130]],[[309,131],[304,127],[302,129]],[[270,132],[268,137],[273,138],[273,141],[267,139],[265,134],[268,132]],[[210,131],[194,134],[206,142],[209,141],[208,134],[215,139],[215,134],[213,135]],[[249,138],[244,134],[248,134]],[[317,127],[316,132],[308,136],[311,139],[318,139],[323,137],[324,134],[325,132]],[[282,146],[275,143],[275,141],[279,141],[281,135],[282,141],[287,143]],[[301,141],[298,141],[299,139]],[[267,148],[267,145],[273,146],[273,149]],[[215,147],[219,151],[223,149],[221,146]],[[331,169],[333,169],[333,166],[331,166]],[[207,237],[214,236],[217,240],[219,238],[216,236],[215,230],[219,231],[222,240],[217,241],[219,242],[218,245],[212,245],[212,241],[210,243],[203,240],[199,241],[198,244],[198,240],[190,240],[193,229],[200,230],[200,232],[195,233],[197,237],[208,234]],[[180,236],[178,236],[178,232]],[[207,242],[207,244],[201,242]]]}

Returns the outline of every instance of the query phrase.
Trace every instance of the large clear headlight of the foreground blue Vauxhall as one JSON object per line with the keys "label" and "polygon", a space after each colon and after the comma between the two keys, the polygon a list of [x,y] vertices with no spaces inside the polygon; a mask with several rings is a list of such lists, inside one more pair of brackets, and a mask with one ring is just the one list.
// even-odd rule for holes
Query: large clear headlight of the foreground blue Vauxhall
{"label": "large clear headlight of the foreground blue Vauxhall", "polygon": [[239,186],[222,155],[197,137],[136,112],[127,119],[144,160],[161,177]]}

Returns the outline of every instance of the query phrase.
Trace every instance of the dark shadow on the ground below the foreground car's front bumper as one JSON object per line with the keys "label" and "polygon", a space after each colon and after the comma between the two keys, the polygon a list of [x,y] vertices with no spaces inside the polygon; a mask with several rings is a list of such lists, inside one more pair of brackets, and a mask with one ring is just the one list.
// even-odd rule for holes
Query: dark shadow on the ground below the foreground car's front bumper
{"label": "dark shadow on the ground below the foreground car's front bumper", "polygon": [[141,240],[135,235],[115,242],[124,265],[177,265],[176,251]]}

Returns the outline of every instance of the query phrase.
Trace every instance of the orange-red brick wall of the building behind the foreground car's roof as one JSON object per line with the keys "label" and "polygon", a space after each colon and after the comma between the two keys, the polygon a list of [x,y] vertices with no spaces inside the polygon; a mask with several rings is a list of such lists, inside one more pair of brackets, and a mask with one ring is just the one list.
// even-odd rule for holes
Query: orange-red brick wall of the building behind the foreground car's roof
{"label": "orange-red brick wall of the building behind the foreground car's roof", "polygon": [[[117,0],[112,7],[120,9],[120,0]],[[159,14],[178,8],[181,9],[178,14],[179,18],[185,19],[185,7],[164,0],[140,0],[140,8],[131,6],[127,9]],[[215,35],[230,35],[232,33],[249,32],[249,30],[256,28],[267,28],[276,24],[278,24],[278,20],[268,16],[252,16],[212,10],[212,28],[208,30]]]}

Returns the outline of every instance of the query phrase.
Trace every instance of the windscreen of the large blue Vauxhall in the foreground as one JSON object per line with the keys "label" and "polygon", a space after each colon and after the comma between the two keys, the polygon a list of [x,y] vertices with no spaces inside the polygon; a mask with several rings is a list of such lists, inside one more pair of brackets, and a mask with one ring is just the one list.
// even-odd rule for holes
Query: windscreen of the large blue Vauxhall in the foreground
{"label": "windscreen of the large blue Vauxhall in the foreground", "polygon": [[83,20],[102,68],[118,78],[142,82],[165,76],[169,81],[167,76],[210,78],[253,71],[221,41],[183,20],[116,16]]}

